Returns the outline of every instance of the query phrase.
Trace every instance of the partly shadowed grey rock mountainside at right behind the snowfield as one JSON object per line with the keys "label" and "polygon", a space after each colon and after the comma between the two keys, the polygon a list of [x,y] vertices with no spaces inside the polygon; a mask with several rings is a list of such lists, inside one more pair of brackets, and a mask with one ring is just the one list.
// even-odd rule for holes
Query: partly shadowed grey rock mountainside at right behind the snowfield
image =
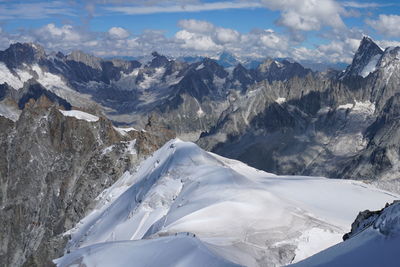
{"label": "partly shadowed grey rock mountainside at right behind the snowfield", "polygon": [[[345,76],[260,82],[198,144],[274,173],[374,179],[398,191],[397,180],[382,184],[398,177],[398,51],[383,52],[364,38]],[[276,66],[270,61],[259,69]]]}

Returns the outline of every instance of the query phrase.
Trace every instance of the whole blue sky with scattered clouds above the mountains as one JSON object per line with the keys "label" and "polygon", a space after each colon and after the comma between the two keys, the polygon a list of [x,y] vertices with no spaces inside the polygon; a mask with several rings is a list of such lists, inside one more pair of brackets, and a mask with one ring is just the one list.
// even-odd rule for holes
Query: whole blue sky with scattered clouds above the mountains
{"label": "whole blue sky with scattered clouds above the mountains", "polygon": [[102,57],[292,58],[350,63],[364,35],[400,45],[397,0],[0,0],[0,49]]}

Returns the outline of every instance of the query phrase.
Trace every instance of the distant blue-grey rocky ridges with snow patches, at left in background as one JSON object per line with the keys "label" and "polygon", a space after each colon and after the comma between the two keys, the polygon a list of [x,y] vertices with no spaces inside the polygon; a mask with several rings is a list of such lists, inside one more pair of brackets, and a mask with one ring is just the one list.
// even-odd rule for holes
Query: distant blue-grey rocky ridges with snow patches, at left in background
{"label": "distant blue-grey rocky ridges with snow patches, at left in background", "polygon": [[[14,59],[15,53],[24,56]],[[139,128],[145,126],[148,114],[157,113],[179,135],[193,136],[190,140],[210,130],[229,105],[230,94],[245,93],[257,81],[283,81],[311,73],[289,61],[268,61],[257,70],[238,65],[229,73],[208,58],[189,64],[154,52],[152,60],[142,65],[137,61],[104,60],[80,51],[66,56],[46,55],[43,48],[33,44],[16,44],[2,55],[0,61],[6,65],[3,71],[10,78],[0,79],[0,83],[15,89],[12,98],[20,106],[46,92],[47,97],[61,98],[58,102],[64,102],[67,109],[67,103],[84,108],[97,105],[116,123]],[[221,59],[232,61],[234,57],[225,53]],[[48,92],[32,92],[33,84],[40,84]],[[20,88],[24,93],[17,92]]]}

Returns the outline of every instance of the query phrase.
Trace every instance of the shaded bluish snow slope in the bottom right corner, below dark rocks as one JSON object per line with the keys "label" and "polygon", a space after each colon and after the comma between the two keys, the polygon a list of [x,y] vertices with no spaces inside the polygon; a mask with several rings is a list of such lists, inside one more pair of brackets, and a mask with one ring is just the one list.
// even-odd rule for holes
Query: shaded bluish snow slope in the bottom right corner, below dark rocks
{"label": "shaded bluish snow slope in the bottom right corner, below dark rocks", "polygon": [[400,203],[386,208],[359,234],[318,253],[293,267],[392,267],[399,266]]}

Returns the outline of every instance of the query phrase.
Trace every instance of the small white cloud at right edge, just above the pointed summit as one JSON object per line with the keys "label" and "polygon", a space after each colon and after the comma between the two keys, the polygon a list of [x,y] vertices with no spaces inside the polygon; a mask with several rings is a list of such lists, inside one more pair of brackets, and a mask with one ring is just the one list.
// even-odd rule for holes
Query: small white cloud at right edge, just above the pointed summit
{"label": "small white cloud at right edge, just above the pointed summit", "polygon": [[379,15],[379,19],[367,19],[366,23],[379,33],[388,37],[400,37],[400,16],[398,15]]}

